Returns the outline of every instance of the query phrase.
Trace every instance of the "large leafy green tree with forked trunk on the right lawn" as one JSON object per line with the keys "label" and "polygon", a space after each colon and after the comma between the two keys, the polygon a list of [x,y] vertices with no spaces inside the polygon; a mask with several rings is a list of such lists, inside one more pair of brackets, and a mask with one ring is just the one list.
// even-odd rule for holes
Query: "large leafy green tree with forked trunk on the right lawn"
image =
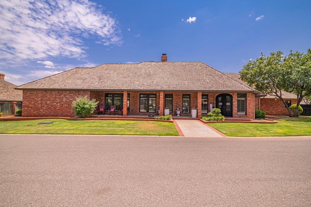
{"label": "large leafy green tree with forked trunk on the right lawn", "polygon": [[311,94],[311,49],[306,54],[295,52],[284,56],[283,52],[271,52],[249,61],[240,71],[242,81],[257,90],[279,98],[287,108],[290,117],[293,113],[282,97],[282,90],[297,94],[297,110],[302,99]]}

